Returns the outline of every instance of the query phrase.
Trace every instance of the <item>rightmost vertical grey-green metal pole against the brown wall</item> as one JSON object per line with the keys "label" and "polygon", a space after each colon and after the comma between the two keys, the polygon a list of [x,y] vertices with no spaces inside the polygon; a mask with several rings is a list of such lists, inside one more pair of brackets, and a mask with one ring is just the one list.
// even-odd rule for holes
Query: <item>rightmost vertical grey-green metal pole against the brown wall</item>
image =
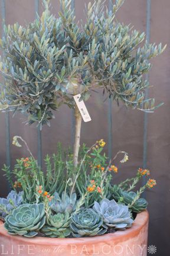
{"label": "rightmost vertical grey-green metal pole against the brown wall", "polygon": [[[147,1],[146,7],[146,41],[149,43],[151,37],[151,0]],[[149,73],[146,74],[146,80],[149,81]],[[145,98],[148,98],[149,91],[146,89]],[[147,167],[147,152],[148,152],[148,113],[144,114],[144,126],[143,126],[143,168]],[[143,177],[143,185],[146,183],[146,178]],[[145,196],[145,194],[143,194]]]}

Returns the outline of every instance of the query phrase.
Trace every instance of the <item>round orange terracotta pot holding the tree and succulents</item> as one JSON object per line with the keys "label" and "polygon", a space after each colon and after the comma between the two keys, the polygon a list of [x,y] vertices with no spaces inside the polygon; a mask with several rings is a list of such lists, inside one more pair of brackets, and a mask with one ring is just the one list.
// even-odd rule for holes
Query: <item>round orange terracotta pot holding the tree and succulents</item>
{"label": "round orange terracotta pot holding the tree and succulents", "polygon": [[136,216],[132,228],[92,238],[24,238],[9,235],[0,224],[1,255],[35,256],[146,256],[148,240],[147,211]]}

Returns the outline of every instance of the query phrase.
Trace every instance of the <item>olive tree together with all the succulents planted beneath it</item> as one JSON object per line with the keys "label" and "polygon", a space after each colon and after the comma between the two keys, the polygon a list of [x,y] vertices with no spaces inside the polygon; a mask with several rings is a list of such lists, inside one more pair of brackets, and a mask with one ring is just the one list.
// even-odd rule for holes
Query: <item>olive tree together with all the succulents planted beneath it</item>
{"label": "olive tree together with all the succulents planted beneath it", "polygon": [[[21,147],[21,140],[30,156],[17,159],[14,169],[4,165],[14,190],[0,199],[5,229],[28,238],[80,238],[130,228],[133,213],[148,206],[141,198],[143,191],[156,181],[149,178],[148,169],[139,168],[135,177],[115,184],[116,158],[123,155],[124,164],[128,153],[119,151],[109,159],[103,139],[90,148],[80,147],[82,118],[74,96],[81,94],[79,101],[87,101],[92,91],[102,89],[117,104],[122,101],[126,107],[153,112],[161,104],[145,98],[150,86],[144,74],[151,69],[150,59],[166,46],[148,44],[144,33],[117,22],[116,11],[124,0],[116,0],[112,11],[105,1],[89,2],[81,27],[71,0],[60,0],[58,18],[50,12],[50,0],[42,2],[44,12],[27,27],[4,27],[0,72],[5,90],[1,87],[0,108],[27,113],[27,123],[42,129],[50,126],[53,110],[66,104],[74,110],[74,147],[63,151],[58,144],[57,154],[45,157],[42,171],[27,142],[14,137],[13,144]],[[146,184],[135,192],[143,176]]]}

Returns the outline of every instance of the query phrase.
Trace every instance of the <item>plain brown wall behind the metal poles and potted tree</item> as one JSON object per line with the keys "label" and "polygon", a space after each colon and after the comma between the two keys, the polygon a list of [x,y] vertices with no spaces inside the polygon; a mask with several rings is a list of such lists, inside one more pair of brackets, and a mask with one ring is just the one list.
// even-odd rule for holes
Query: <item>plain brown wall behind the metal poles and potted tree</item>
{"label": "plain brown wall behind the metal poles and potted tree", "polygon": [[[40,1],[41,2],[41,1]],[[59,8],[59,1],[51,1],[53,12]],[[89,0],[76,0],[77,18],[83,17],[84,2]],[[168,256],[169,229],[170,229],[170,175],[169,175],[169,142],[170,142],[170,68],[169,68],[169,42],[170,42],[170,1],[154,0],[151,13],[151,41],[168,44],[162,56],[153,60],[153,68],[150,73],[150,95],[163,107],[148,115],[148,168],[158,185],[154,190],[148,191],[146,198],[149,201],[150,228],[149,245],[155,245],[159,256]],[[12,24],[18,21],[21,24],[34,19],[34,0],[6,0],[6,23]],[[126,24],[133,24],[140,31],[146,31],[146,0],[126,0],[120,9],[118,18]],[[0,25],[2,23],[0,17]],[[96,139],[103,138],[107,142],[107,101],[103,103],[100,94],[94,94],[87,103],[92,121],[84,123],[81,133],[81,142],[91,145]],[[5,162],[5,115],[0,114],[0,165]],[[122,149],[129,152],[130,160],[123,165],[117,174],[117,180],[122,180],[135,173],[142,166],[143,159],[143,117],[144,114],[136,110],[126,110],[120,105],[113,105],[113,153]],[[37,154],[37,129],[35,126],[25,126],[24,117],[17,114],[10,118],[11,138],[20,135],[27,140],[32,152]],[[62,142],[67,146],[71,143],[71,111],[67,107],[61,107],[55,113],[55,120],[51,121],[51,128],[45,127],[42,131],[42,148],[45,153],[55,152],[56,143]],[[23,149],[11,147],[12,164],[15,158],[27,156]],[[1,174],[0,196],[6,194],[6,182]],[[136,255],[137,256],[137,255]]]}

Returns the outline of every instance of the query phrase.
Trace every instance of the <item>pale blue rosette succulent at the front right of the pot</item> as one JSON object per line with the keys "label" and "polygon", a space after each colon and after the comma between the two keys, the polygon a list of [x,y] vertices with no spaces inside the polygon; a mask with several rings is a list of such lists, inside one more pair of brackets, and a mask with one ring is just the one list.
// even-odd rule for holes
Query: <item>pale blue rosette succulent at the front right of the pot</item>
{"label": "pale blue rosette succulent at the front right of the pot", "polygon": [[103,199],[100,204],[95,201],[93,209],[110,228],[126,229],[132,226],[133,220],[128,206],[117,204],[115,200]]}

